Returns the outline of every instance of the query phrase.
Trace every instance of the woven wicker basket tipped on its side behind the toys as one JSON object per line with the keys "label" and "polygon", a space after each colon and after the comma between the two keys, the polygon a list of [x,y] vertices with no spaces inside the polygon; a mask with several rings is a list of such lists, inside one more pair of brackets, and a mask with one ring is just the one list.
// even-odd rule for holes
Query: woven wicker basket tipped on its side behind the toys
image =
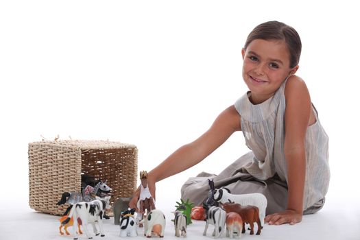
{"label": "woven wicker basket tipped on its side behind the toys", "polygon": [[62,193],[81,190],[81,174],[108,180],[113,204],[136,188],[137,148],[110,141],[41,141],[29,143],[29,205],[36,211],[62,215]]}

